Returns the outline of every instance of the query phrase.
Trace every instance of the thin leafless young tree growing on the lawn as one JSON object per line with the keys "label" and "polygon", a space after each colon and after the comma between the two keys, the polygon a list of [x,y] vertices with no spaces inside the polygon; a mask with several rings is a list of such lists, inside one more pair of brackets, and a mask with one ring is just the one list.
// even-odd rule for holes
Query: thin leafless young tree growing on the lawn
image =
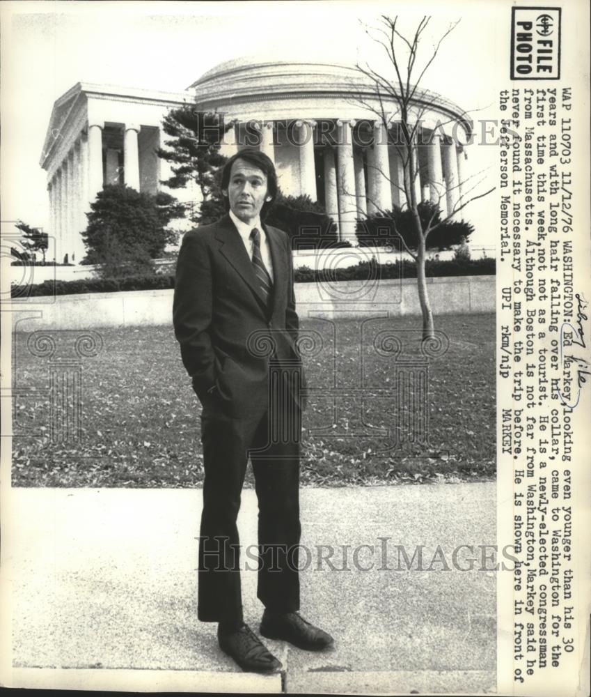
{"label": "thin leafless young tree growing on the lawn", "polygon": [[[442,214],[437,220],[436,210],[439,208],[441,198],[445,197],[444,187],[439,192],[432,193],[432,201],[437,204],[435,212],[428,220],[421,220],[418,210],[420,195],[417,195],[416,181],[419,176],[418,162],[418,135],[421,117],[430,107],[436,108],[435,97],[422,89],[420,83],[425,76],[428,68],[432,65],[439,53],[443,40],[455,29],[457,22],[450,24],[448,29],[443,32],[439,40],[432,46],[431,50],[425,54],[423,62],[420,62],[421,40],[425,39],[425,29],[430,23],[431,17],[423,17],[418,23],[411,38],[407,38],[397,28],[398,17],[387,17],[383,15],[379,26],[375,29],[368,29],[367,33],[372,40],[375,40],[384,48],[388,56],[387,74],[373,69],[369,64],[357,64],[357,69],[368,78],[372,84],[372,92],[368,96],[367,91],[360,91],[356,94],[356,102],[368,107],[381,122],[386,134],[393,131],[393,123],[397,123],[397,134],[393,137],[393,145],[397,155],[402,162],[404,171],[403,181],[392,181],[391,175],[385,171],[379,171],[380,176],[388,179],[391,186],[397,187],[403,194],[406,201],[405,205],[411,211],[413,230],[416,236],[416,244],[409,246],[404,240],[394,224],[394,231],[402,243],[402,247],[416,261],[417,285],[420,309],[423,315],[423,339],[434,337],[433,312],[427,292],[427,281],[425,275],[425,260],[427,250],[427,237],[450,218],[465,208],[471,201],[480,199],[494,191],[494,187],[482,193],[476,193],[475,189],[482,180],[477,181],[469,188],[464,190],[462,198],[456,197],[456,203],[448,214]],[[365,81],[367,82],[367,80]],[[420,97],[420,99],[419,99]],[[392,107],[395,109],[392,109]],[[445,122],[438,125],[443,127]],[[479,173],[482,174],[482,173]],[[478,176],[478,175],[477,175]],[[473,178],[472,178],[473,179]],[[420,181],[420,180],[419,180]],[[458,181],[455,187],[459,190],[464,187],[465,181]],[[466,187],[464,187],[466,188]],[[449,187],[448,187],[449,190]],[[374,208],[379,215],[393,219],[391,211],[383,210],[378,201],[372,201]],[[442,206],[445,210],[445,206]]]}

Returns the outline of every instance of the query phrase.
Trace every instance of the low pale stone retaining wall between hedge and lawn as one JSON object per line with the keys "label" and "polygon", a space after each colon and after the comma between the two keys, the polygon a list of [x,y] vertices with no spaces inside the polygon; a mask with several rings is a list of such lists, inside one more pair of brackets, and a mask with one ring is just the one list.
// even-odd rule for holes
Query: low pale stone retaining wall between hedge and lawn
{"label": "low pale stone retaining wall between hedge and lawn", "polygon": [[[495,276],[427,279],[435,315],[494,312]],[[420,314],[416,279],[375,279],[326,284],[298,283],[297,312],[306,316],[366,317],[372,314]],[[42,296],[12,305],[17,331],[37,329],[90,329],[169,324],[172,290],[88,293]]]}

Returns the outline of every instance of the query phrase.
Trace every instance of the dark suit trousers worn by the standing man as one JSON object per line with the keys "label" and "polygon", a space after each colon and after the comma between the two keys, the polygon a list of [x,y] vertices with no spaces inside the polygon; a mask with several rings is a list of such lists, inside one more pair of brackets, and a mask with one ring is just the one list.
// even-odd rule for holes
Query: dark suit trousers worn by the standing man
{"label": "dark suit trousers worn by the standing man", "polygon": [[[275,400],[265,413],[250,418],[232,418],[204,405],[198,556],[198,618],[203,622],[242,620],[236,520],[249,455],[259,510],[257,595],[272,611],[299,609],[301,413],[292,401],[282,401]],[[251,553],[246,563],[257,568]]]}

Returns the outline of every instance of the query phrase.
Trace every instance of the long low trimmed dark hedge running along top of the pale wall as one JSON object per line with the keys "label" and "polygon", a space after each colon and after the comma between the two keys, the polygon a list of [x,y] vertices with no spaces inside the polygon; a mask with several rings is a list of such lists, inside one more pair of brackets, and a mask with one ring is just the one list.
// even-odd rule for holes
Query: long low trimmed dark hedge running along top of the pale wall
{"label": "long low trimmed dark hedge running along top of the pale wall", "polygon": [[[467,261],[427,261],[427,276],[490,276],[496,273],[494,259],[470,259]],[[313,283],[317,280],[353,281],[368,278],[416,278],[416,263],[402,261],[379,264],[361,261],[347,268],[316,270],[302,266],[295,270],[297,283]],[[13,298],[29,296],[65,296],[80,293],[116,293],[117,291],[147,291],[174,288],[175,277],[171,274],[130,276],[128,278],[88,278],[76,281],[45,281],[31,286],[12,287]]]}

